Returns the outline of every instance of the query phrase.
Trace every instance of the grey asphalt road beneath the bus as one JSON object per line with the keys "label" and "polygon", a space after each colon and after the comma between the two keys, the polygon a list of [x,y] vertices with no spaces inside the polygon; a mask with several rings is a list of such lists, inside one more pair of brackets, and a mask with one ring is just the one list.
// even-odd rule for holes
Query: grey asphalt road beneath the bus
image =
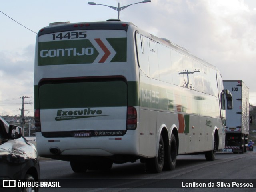
{"label": "grey asphalt road beneath the bus", "polygon": [[[41,179],[65,179],[75,187],[75,181],[88,182],[93,188],[40,188],[40,192],[69,192],[69,191],[128,191],[128,192],[252,192],[256,188],[172,188],[175,182],[194,181],[206,179],[207,182],[215,180],[241,180],[256,179],[256,152],[244,154],[222,153],[216,155],[215,161],[206,161],[204,155],[178,156],[176,168],[173,171],[163,171],[160,174],[151,174],[146,171],[145,164],[138,162],[114,164],[110,171],[87,171],[74,173],[69,162],[58,160],[42,160],[40,162]],[[89,180],[90,181],[90,180]],[[116,181],[125,181],[123,182]],[[78,182],[78,183],[79,183]],[[97,183],[98,182],[98,183]],[[109,182],[114,188],[104,188],[100,185]],[[166,182],[172,183],[167,184]],[[122,186],[125,186],[122,187]],[[165,187],[167,186],[167,187]],[[165,188],[163,188],[165,187]],[[256,186],[254,186],[256,187]]]}

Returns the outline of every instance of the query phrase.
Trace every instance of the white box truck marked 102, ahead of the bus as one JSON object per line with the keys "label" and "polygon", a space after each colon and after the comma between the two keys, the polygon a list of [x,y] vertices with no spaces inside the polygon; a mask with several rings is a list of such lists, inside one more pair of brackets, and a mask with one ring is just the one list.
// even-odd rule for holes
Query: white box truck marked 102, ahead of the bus
{"label": "white box truck marked 102, ahead of the bus", "polygon": [[225,148],[233,153],[247,151],[249,135],[249,89],[241,80],[224,80],[233,98],[232,110],[226,110]]}

